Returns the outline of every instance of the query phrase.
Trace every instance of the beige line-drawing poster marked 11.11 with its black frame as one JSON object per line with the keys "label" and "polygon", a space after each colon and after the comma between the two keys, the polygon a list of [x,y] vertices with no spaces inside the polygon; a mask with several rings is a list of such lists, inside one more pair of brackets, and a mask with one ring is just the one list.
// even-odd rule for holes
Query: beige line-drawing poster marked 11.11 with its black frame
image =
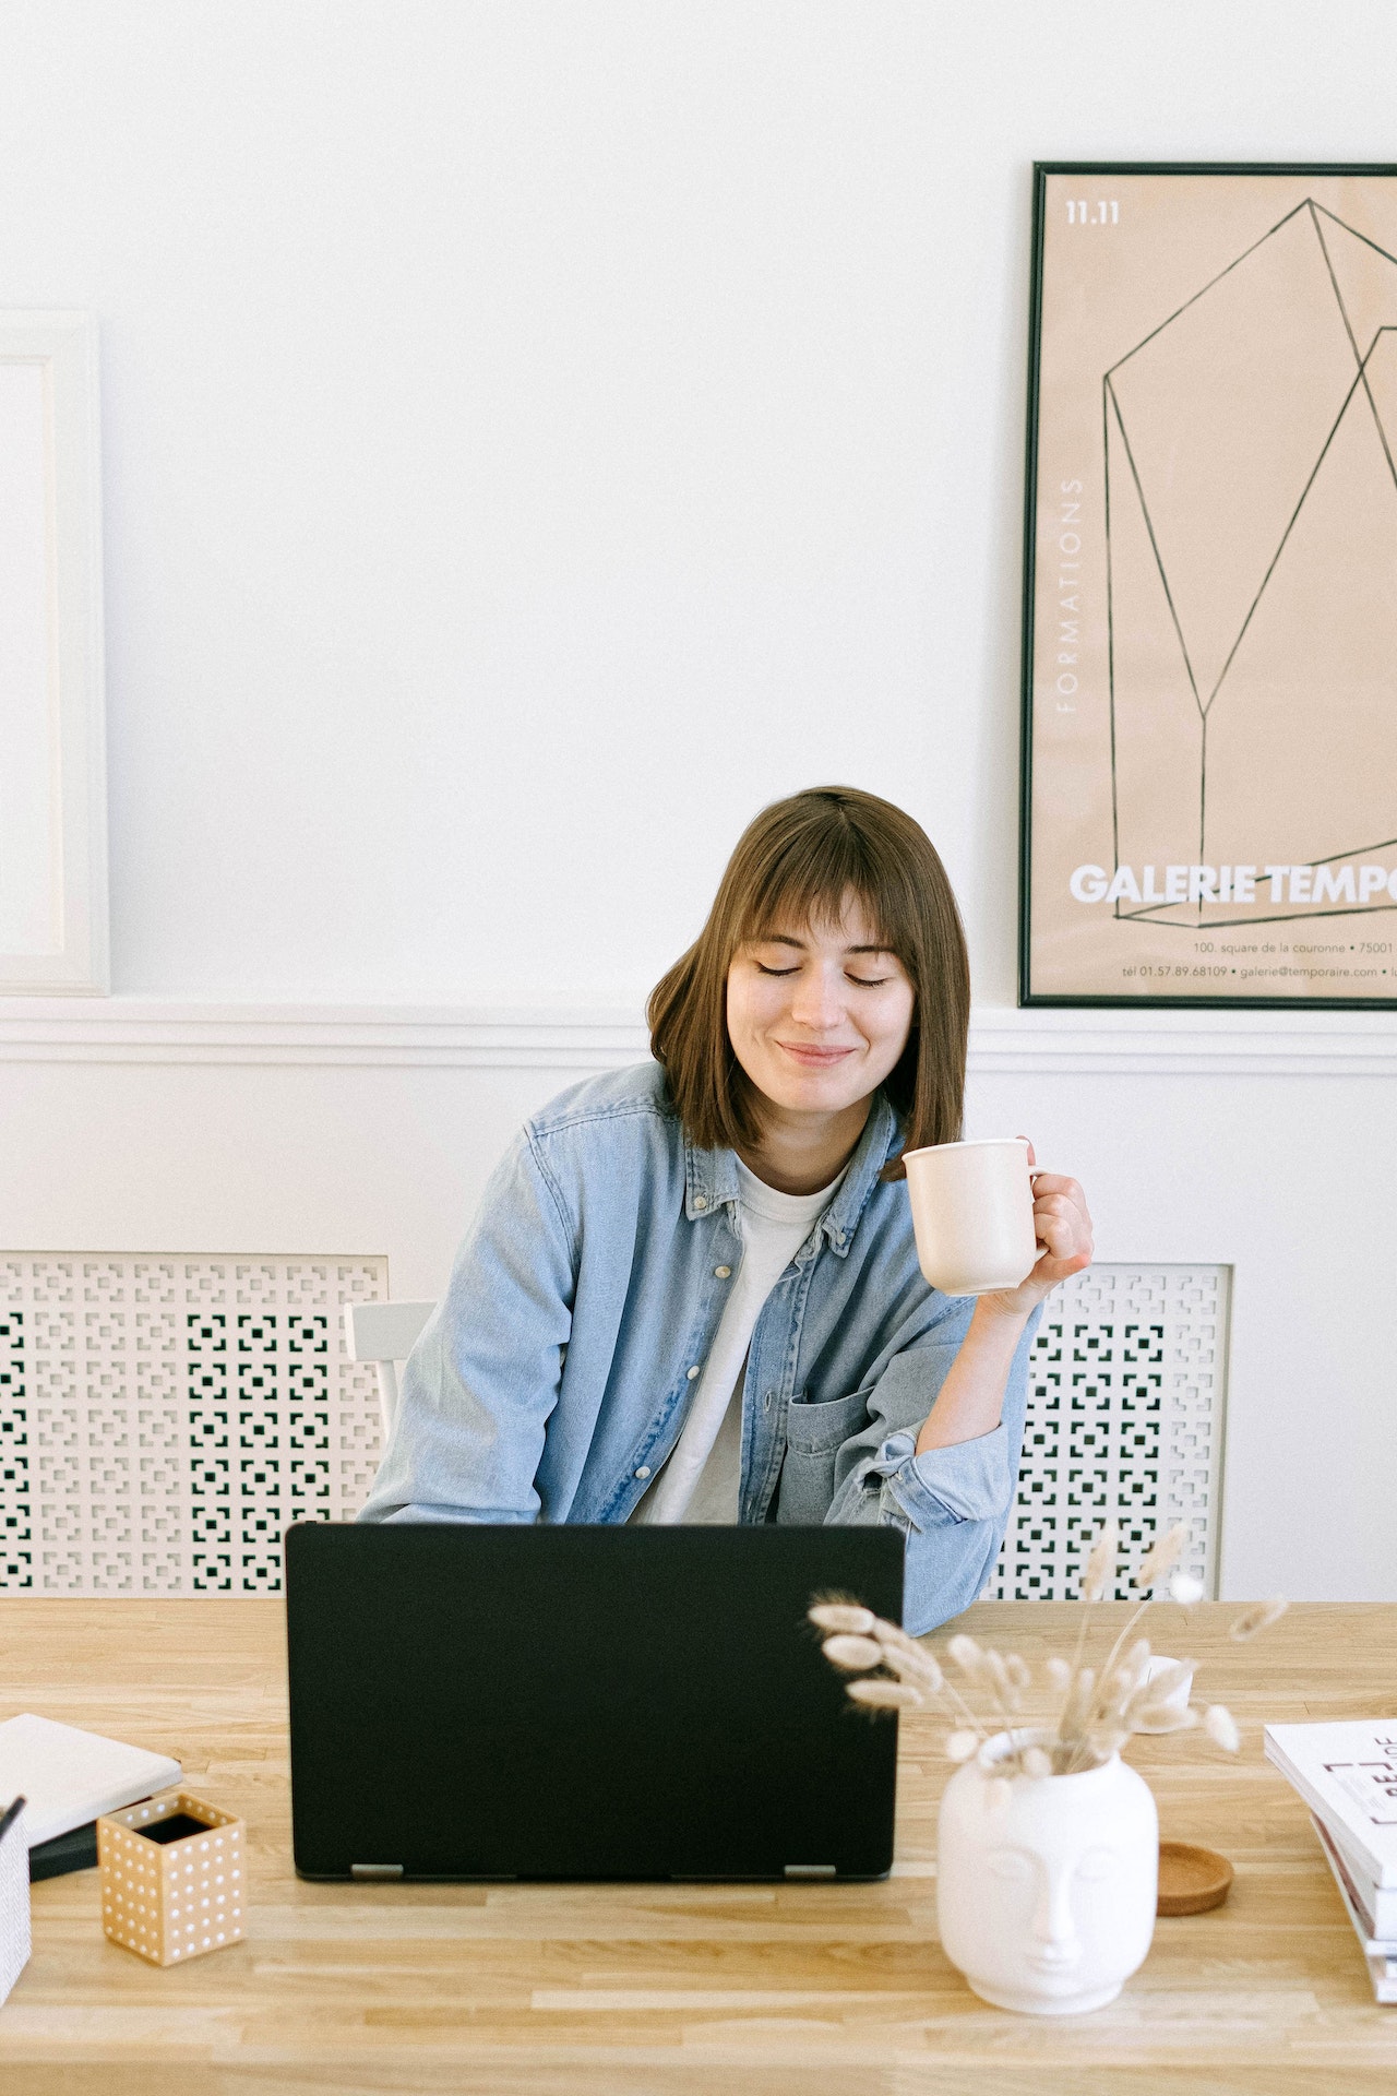
{"label": "beige line-drawing poster marked 11.11 with its black frame", "polygon": [[1035,168],[1020,1004],[1397,1006],[1397,168]]}

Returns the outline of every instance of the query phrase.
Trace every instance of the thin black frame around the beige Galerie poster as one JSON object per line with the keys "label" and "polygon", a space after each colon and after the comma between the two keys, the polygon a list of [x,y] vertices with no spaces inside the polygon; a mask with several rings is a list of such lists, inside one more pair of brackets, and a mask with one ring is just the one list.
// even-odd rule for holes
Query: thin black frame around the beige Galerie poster
{"label": "thin black frame around the beige Galerie poster", "polygon": [[[1018,1006],[1020,1008],[1106,1008],[1106,1010],[1397,1010],[1397,964],[1391,996],[1280,996],[1204,987],[1198,991],[1133,991],[1121,996],[1093,991],[1043,991],[1033,983],[1033,767],[1035,767],[1035,595],[1037,595],[1037,526],[1039,526],[1039,453],[1041,453],[1041,354],[1045,293],[1045,224],[1047,184],[1051,176],[1081,176],[1097,182],[1118,176],[1286,176],[1286,178],[1391,178],[1391,161],[1035,161],[1033,163],[1033,252],[1028,293],[1028,413],[1024,457],[1024,574],[1022,574],[1022,641],[1020,641],[1020,801],[1018,801]],[[1391,258],[1389,260],[1397,260]],[[1397,451],[1397,446],[1395,446]],[[1114,742],[1114,681],[1112,681]],[[1363,847],[1363,849],[1378,849]],[[1315,866],[1326,861],[1313,861]],[[1397,876],[1395,876],[1397,878]],[[1391,910],[1397,924],[1397,901]],[[1332,912],[1349,916],[1351,912]],[[1372,910],[1370,914],[1378,914]],[[1393,935],[1397,960],[1397,933]]]}

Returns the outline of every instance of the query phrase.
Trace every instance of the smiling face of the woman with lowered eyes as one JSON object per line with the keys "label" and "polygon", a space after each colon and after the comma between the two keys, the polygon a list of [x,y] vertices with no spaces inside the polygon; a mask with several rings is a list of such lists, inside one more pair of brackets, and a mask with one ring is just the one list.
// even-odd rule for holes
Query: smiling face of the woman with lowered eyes
{"label": "smiling face of the woman with lowered eyes", "polygon": [[913,989],[863,905],[838,924],[775,924],[727,973],[727,1031],[756,1090],[792,1113],[840,1113],[896,1067]]}

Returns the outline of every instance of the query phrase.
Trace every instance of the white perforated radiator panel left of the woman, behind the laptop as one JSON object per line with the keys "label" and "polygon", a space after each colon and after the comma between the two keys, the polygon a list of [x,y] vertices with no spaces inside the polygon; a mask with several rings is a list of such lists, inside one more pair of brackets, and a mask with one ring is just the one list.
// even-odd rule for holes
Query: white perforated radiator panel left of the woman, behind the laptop
{"label": "white perforated radiator panel left of the woman, behind the laptop", "polygon": [[387,1260],[0,1258],[0,1591],[276,1593],[379,1459],[339,1306]]}

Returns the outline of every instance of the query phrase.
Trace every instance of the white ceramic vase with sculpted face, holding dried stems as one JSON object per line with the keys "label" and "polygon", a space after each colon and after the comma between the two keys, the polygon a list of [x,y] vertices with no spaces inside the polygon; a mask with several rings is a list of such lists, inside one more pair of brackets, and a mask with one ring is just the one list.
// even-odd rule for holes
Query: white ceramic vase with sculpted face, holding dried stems
{"label": "white ceramic vase with sculpted face, holding dried stems", "polygon": [[1154,1935],[1158,1815],[1112,1759],[1083,1775],[991,1777],[940,1803],[940,1943],[997,2008],[1070,2016],[1112,2002]]}

